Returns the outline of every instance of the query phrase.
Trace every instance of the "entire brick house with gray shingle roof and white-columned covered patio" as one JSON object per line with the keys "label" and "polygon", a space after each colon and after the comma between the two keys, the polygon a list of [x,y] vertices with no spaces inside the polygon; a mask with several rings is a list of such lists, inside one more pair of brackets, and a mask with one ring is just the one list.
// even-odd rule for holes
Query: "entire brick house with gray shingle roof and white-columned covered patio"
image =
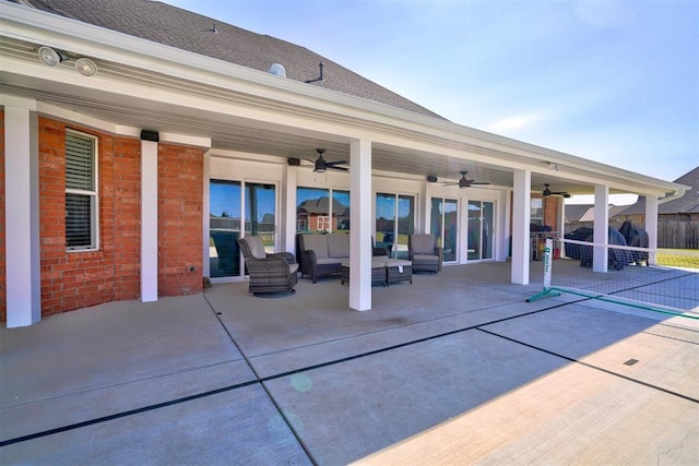
{"label": "entire brick house with gray shingle roof and white-columned covered patio", "polygon": [[[8,326],[197,294],[214,263],[216,280],[245,279],[212,234],[235,248],[244,225],[294,252],[298,190],[350,200],[363,277],[371,237],[392,229],[396,252],[406,232],[438,235],[450,264],[511,250],[511,282],[528,284],[532,203],[564,224],[545,186],[597,205],[645,195],[647,212],[686,189],[457,124],[301,46],[156,1],[0,0],[0,41]],[[309,165],[318,148],[348,170]],[[462,171],[489,186],[460,189]],[[351,308],[371,308],[368,284],[351,280]]]}

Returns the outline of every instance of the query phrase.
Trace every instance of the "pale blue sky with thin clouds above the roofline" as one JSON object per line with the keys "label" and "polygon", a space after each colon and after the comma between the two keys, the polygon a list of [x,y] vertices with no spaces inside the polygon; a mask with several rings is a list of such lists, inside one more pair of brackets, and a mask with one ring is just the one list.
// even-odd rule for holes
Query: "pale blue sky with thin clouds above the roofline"
{"label": "pale blue sky with thin clouds above the roofline", "polygon": [[697,0],[168,0],[460,124],[665,180],[699,166]]}

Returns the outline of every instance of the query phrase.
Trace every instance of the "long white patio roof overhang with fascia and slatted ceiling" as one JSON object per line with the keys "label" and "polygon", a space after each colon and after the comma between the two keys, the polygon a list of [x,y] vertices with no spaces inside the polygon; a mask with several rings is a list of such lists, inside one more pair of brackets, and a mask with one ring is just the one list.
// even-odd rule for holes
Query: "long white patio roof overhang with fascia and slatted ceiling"
{"label": "long white patio roof overhang with fascia and slatted ceiling", "polygon": [[[532,171],[534,191],[550,183],[590,194],[605,184],[611,193],[662,199],[688,189],[22,5],[2,2],[0,12],[2,105],[22,99],[38,112],[115,133],[155,130],[164,140],[280,164],[312,157],[317,147],[348,159],[350,142],[364,139],[372,142],[375,174],[458,180],[467,170],[511,189],[520,169]],[[70,64],[47,68],[36,53],[44,45],[73,61],[87,57],[99,71],[85,77]]]}

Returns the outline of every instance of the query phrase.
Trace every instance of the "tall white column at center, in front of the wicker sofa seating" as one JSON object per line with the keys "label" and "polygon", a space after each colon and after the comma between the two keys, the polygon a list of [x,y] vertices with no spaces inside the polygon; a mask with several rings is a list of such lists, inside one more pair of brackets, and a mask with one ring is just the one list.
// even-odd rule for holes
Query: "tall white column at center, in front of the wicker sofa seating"
{"label": "tall white column at center, in front of the wicker sofa seating", "polygon": [[371,141],[350,144],[350,307],[371,309]]}

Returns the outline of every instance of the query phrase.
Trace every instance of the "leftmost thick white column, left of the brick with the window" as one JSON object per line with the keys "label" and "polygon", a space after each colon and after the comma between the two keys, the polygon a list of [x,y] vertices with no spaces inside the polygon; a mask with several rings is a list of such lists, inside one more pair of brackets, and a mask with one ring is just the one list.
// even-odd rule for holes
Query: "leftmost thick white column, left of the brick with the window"
{"label": "leftmost thick white column, left of the brick with the window", "polygon": [[42,320],[38,120],[4,107],[4,237],[8,328]]}

